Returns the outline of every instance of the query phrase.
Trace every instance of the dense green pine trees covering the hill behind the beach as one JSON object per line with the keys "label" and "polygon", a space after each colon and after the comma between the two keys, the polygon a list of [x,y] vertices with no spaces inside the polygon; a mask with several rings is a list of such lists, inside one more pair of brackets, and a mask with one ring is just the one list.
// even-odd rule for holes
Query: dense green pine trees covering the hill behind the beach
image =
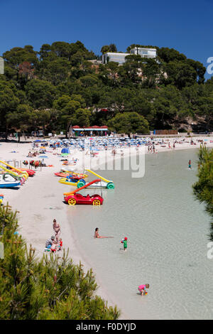
{"label": "dense green pine trees covering the hill behind the beach", "polygon": [[[97,65],[88,61],[97,56],[80,41],[43,44],[38,53],[31,45],[6,51],[5,74],[0,75],[0,131],[12,131],[15,125],[17,131],[31,131],[40,124],[50,132],[68,129],[72,122],[106,125],[124,112],[145,117],[151,129],[182,128],[190,117],[197,121],[195,131],[211,130],[213,80],[204,82],[204,66],[173,48],[132,44],[127,50],[134,47],[156,48],[158,61],[132,54],[123,65]],[[116,50],[114,43],[102,47],[102,53]],[[21,123],[18,104],[40,113],[52,110],[54,117],[41,117],[45,124],[37,117],[33,123],[30,115],[26,122],[23,113]],[[77,109],[90,110],[89,123],[84,112],[76,117]]]}

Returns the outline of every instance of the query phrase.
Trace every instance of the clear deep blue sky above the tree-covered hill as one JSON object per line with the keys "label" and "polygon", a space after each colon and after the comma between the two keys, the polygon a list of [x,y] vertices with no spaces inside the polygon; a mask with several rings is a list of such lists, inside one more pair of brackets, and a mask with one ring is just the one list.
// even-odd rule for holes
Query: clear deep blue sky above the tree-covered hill
{"label": "clear deep blue sky above the tree-covered hill", "polygon": [[[115,43],[175,48],[207,66],[213,0],[0,0],[0,55],[15,46],[82,41],[100,54]],[[207,75],[209,77],[209,75]]]}

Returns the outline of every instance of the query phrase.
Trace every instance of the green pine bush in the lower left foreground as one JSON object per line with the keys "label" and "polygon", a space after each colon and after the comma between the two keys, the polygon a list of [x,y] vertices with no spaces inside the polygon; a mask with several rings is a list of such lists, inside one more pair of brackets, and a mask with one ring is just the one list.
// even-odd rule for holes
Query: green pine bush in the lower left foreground
{"label": "green pine bush in the lower left foreground", "polygon": [[116,320],[117,308],[94,293],[97,284],[92,269],[84,273],[68,252],[35,259],[35,249],[26,247],[18,229],[16,212],[9,205],[0,208],[1,320]]}

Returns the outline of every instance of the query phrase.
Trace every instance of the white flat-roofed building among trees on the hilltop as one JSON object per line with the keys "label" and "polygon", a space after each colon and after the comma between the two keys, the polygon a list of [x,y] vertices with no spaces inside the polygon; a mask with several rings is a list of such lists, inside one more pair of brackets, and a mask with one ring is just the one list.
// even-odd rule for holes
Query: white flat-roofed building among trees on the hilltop
{"label": "white flat-roofed building among trees on the hilltop", "polygon": [[102,64],[107,64],[110,61],[124,64],[126,55],[141,55],[142,58],[156,58],[157,50],[151,48],[133,48],[130,50],[130,53],[107,52],[102,55]]}

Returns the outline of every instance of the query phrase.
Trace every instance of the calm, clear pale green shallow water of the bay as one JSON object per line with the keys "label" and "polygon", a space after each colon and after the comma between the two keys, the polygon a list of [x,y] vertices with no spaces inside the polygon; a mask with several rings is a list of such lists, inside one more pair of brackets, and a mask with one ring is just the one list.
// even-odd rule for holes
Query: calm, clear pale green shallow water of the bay
{"label": "calm, clear pale green shallow water of the bay", "polygon": [[[212,318],[210,217],[192,195],[196,160],[192,149],[146,154],[143,178],[131,178],[130,171],[102,171],[116,186],[103,190],[104,205],[67,209],[82,252],[128,318]],[[114,239],[94,239],[95,227]],[[125,253],[123,237],[128,237]],[[137,287],[146,283],[148,295],[141,297]]]}

